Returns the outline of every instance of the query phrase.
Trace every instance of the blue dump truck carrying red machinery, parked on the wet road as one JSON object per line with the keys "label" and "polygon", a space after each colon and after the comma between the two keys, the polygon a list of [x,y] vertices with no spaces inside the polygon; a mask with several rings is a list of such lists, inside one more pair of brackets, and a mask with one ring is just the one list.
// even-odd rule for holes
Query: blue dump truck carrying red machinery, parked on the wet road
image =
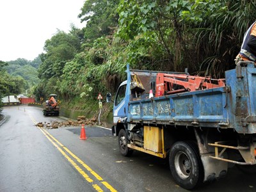
{"label": "blue dump truck carrying red machinery, parked on the wet road", "polygon": [[113,124],[123,156],[138,150],[168,158],[182,188],[224,177],[232,164],[251,170],[256,164],[255,65],[240,61],[225,79],[127,65]]}

